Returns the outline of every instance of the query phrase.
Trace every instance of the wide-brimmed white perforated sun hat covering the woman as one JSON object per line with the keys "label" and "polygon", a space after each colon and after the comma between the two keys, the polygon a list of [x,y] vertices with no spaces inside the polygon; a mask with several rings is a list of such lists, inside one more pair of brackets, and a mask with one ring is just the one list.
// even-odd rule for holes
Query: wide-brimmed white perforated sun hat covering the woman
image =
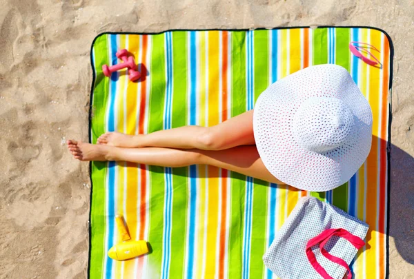
{"label": "wide-brimmed white perforated sun hat covering the woman", "polygon": [[268,171],[323,192],[348,181],[371,149],[371,107],[348,71],[316,65],[270,85],[257,99],[253,130]]}

